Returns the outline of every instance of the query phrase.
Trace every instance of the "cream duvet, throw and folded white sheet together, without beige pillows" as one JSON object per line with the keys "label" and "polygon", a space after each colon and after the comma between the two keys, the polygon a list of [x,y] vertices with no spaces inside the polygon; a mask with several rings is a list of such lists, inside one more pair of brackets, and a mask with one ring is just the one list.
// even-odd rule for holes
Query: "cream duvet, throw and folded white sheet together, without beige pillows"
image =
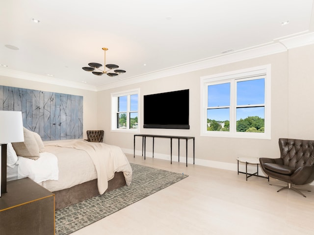
{"label": "cream duvet, throw and folded white sheet together, without beige pillows", "polygon": [[103,194],[107,181],[115,172],[121,171],[127,185],[132,180],[131,165],[121,148],[105,143],[81,140],[50,143],[45,145],[36,161],[23,157],[17,159],[16,164],[7,167],[8,180],[29,177],[52,192],[101,177],[103,180],[98,180],[101,183],[98,186]]}

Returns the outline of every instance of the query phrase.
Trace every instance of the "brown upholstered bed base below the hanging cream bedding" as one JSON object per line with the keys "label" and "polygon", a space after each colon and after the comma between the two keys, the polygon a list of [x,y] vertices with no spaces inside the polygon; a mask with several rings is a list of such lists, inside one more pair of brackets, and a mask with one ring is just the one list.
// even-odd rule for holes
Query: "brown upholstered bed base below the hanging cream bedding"
{"label": "brown upholstered bed base below the hanging cream bedding", "polygon": [[[125,185],[126,180],[123,172],[116,172],[114,173],[113,179],[108,181],[108,188],[105,193],[116,188],[121,188]],[[55,210],[57,211],[64,207],[71,206],[88,198],[99,195],[97,179],[73,186],[72,188],[55,191],[53,193],[55,195]]]}

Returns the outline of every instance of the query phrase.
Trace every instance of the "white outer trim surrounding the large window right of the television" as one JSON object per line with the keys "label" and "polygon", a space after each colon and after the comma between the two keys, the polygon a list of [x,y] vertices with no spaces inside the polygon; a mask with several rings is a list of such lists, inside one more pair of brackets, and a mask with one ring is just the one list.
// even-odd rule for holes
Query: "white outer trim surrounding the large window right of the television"
{"label": "white outer trim surrounding the large window right of the television", "polygon": [[[200,114],[200,128],[201,136],[207,137],[226,137],[226,138],[245,138],[245,139],[271,139],[271,65],[264,65],[254,68],[248,68],[238,71],[224,72],[209,76],[201,77],[201,114]],[[207,86],[208,83],[212,82],[223,82],[224,80],[235,79],[235,78],[244,78],[248,76],[257,76],[261,74],[266,74],[265,76],[265,132],[264,133],[253,133],[253,132],[232,132],[225,131],[207,131]],[[232,97],[234,97],[234,92],[231,92]],[[234,98],[232,100],[235,100]],[[232,115],[235,115],[232,113]]]}

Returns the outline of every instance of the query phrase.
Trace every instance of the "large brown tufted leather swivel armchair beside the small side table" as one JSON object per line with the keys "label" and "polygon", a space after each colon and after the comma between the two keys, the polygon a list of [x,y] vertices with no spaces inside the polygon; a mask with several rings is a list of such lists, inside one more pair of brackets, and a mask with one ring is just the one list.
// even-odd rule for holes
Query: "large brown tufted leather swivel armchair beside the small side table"
{"label": "large brown tufted leather swivel armchair beside the small side table", "polygon": [[292,189],[306,197],[292,185],[307,185],[314,181],[314,141],[279,139],[280,158],[260,158],[264,173],[288,183],[279,189]]}

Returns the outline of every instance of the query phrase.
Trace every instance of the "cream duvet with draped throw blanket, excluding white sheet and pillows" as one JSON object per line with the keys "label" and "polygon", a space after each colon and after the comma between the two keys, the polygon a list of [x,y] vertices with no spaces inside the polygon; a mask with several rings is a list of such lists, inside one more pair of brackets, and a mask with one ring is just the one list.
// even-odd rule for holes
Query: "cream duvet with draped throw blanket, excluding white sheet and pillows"
{"label": "cream duvet with draped throw blanket, excluding white sheet and pillows", "polygon": [[[108,180],[115,172],[124,172],[127,185],[131,184],[132,168],[121,148],[105,143],[67,141],[45,145],[45,152],[58,158],[59,180],[45,181],[42,186],[50,191],[71,188],[98,178],[99,193],[103,194]],[[96,165],[96,166],[95,166]]]}

